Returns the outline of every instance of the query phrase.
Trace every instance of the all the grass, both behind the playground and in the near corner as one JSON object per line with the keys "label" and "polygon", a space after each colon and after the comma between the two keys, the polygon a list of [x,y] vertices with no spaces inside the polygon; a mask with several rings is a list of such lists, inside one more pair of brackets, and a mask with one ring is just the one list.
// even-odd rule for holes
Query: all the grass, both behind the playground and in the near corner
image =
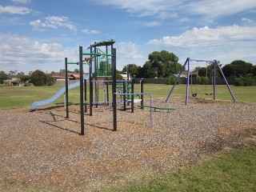
{"label": "all the grass, both behind the playground and in the near corner", "polygon": [[[18,87],[0,86],[0,109],[30,107],[34,101],[40,101],[52,96],[62,86]],[[210,86],[193,87],[198,98],[212,98]],[[144,92],[152,94],[153,98],[166,98],[171,86],[145,84]],[[256,86],[231,86],[239,102],[256,102]],[[139,87],[135,85],[134,92]],[[103,99],[102,90],[100,90]],[[184,97],[186,85],[175,87],[173,97]],[[191,94],[190,94],[191,95]],[[217,86],[217,99],[230,100],[230,92],[226,86]],[[79,89],[70,90],[70,102],[79,102]],[[63,103],[63,97],[56,103]],[[256,191],[256,138],[250,138],[241,150],[225,150],[214,157],[204,160],[198,165],[185,167],[162,178],[152,176],[149,180],[137,183],[126,183],[125,186],[113,186],[110,191]],[[0,181],[1,184],[1,181]],[[1,185],[0,185],[1,186]],[[0,189],[1,190],[1,189]],[[37,191],[37,190],[32,190]]]}

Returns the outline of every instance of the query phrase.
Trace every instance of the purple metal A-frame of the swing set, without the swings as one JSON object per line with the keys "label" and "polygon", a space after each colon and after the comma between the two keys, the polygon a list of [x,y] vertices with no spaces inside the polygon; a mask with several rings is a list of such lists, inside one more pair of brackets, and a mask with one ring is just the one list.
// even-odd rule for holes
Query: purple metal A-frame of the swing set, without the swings
{"label": "purple metal A-frame of the swing set, without the swings", "polygon": [[216,67],[218,67],[220,73],[222,74],[222,77],[224,78],[225,82],[226,82],[226,86],[227,88],[230,90],[230,94],[232,96],[232,98],[234,99],[234,102],[236,102],[236,99],[234,97],[234,94],[230,88],[229,83],[226,80],[225,75],[222,72],[222,68],[218,65],[218,61],[217,60],[213,60],[213,61],[207,61],[207,60],[198,60],[198,59],[191,59],[191,58],[186,58],[186,62],[184,63],[184,65],[182,66],[182,70],[179,72],[176,81],[174,82],[174,86],[171,88],[170,93],[168,94],[167,98],[166,98],[166,102],[168,102],[170,95],[173,93],[175,86],[177,85],[178,79],[181,77],[182,72],[185,70],[185,67],[187,65],[187,82],[186,82],[186,106],[189,104],[189,89],[190,89],[190,62],[209,62],[212,63],[214,66],[214,75],[213,75],[213,86],[214,86],[214,100],[216,99]]}

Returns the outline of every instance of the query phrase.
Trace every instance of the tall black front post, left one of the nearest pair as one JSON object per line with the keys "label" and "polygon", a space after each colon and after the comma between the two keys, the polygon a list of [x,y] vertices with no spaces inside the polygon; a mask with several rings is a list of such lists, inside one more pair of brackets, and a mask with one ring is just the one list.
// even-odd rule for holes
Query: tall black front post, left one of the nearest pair
{"label": "tall black front post, left one of the nearest pair", "polygon": [[82,67],[82,46],[79,46],[79,70],[80,70],[80,115],[81,135],[85,134],[84,110],[83,110],[83,67]]}

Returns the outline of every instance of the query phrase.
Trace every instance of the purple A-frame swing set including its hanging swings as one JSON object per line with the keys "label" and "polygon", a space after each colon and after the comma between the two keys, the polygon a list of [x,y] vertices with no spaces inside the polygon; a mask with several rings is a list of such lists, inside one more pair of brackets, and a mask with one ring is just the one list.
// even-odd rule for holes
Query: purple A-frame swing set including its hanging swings
{"label": "purple A-frame swing set including its hanging swings", "polygon": [[[185,67],[187,65],[188,70],[187,70],[187,82],[186,82],[186,106],[189,103],[189,87],[191,86],[191,94],[193,97],[196,97],[198,95],[197,93],[197,84],[198,84],[198,68],[197,68],[197,82],[196,82],[196,90],[193,92],[192,90],[192,85],[193,85],[193,81],[192,81],[192,73],[190,71],[190,62],[206,62],[206,95],[212,95],[214,96],[214,100],[216,99],[216,67],[218,67],[220,73],[222,74],[222,77],[224,78],[225,82],[226,82],[226,86],[227,88],[230,90],[230,94],[232,96],[232,98],[234,99],[234,102],[236,102],[236,99],[234,98],[234,94],[230,88],[229,83],[226,80],[225,75],[222,72],[222,68],[218,65],[218,61],[217,60],[213,60],[213,61],[207,61],[207,60],[198,60],[198,59],[191,59],[191,58],[186,58],[186,62],[184,63],[184,65],[182,66],[182,70],[179,72],[176,81],[174,82],[174,85],[172,86],[170,93],[168,94],[167,98],[166,98],[166,102],[168,102],[170,95],[173,93],[175,86],[177,85],[178,79],[181,77],[183,70],[185,70]],[[208,80],[208,70],[207,70],[207,63],[211,63],[214,66],[214,70],[213,70],[213,74],[211,75],[211,82],[213,87],[213,93],[207,93],[207,80]],[[190,80],[191,78],[191,80]]]}

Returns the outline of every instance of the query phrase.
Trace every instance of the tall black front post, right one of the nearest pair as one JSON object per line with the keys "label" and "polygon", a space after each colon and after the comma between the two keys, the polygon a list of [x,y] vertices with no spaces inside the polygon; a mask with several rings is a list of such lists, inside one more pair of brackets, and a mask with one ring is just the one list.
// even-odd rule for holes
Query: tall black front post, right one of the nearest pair
{"label": "tall black front post, right one of the nearest pair", "polygon": [[115,94],[117,91],[117,75],[116,75],[116,49],[111,49],[112,56],[112,97],[113,97],[113,130],[117,131],[118,121],[117,121],[117,95]]}

